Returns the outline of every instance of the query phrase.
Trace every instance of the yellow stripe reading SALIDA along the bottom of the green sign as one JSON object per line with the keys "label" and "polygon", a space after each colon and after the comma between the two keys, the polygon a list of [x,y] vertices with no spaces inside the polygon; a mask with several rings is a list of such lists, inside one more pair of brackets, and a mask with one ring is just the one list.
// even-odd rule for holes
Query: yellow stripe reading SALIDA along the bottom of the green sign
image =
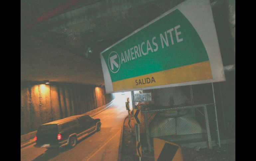
{"label": "yellow stripe reading SALIDA along the bottom of the green sign", "polygon": [[112,82],[113,91],[212,79],[209,61]]}

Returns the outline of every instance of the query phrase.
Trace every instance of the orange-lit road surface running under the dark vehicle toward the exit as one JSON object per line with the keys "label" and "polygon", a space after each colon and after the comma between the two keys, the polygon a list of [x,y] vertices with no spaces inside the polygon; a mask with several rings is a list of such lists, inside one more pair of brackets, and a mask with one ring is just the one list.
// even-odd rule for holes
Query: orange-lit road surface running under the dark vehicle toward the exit
{"label": "orange-lit road surface running under the dark vehicle toward the exit", "polygon": [[121,128],[128,115],[124,105],[114,104],[93,116],[101,120],[101,130],[81,139],[74,148],[35,148],[34,143],[21,148],[21,160],[116,160]]}

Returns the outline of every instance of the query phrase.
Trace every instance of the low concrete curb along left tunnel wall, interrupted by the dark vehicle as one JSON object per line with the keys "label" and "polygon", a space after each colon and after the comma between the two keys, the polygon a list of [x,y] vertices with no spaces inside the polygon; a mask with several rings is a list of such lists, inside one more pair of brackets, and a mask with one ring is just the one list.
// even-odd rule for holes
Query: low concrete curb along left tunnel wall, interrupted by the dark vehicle
{"label": "low concrete curb along left tunnel wall, interrupted by the dark vehicle", "polygon": [[[97,109],[94,109],[92,111],[88,111],[88,112],[84,113],[84,115],[89,115],[90,117],[93,117],[93,116],[101,113],[102,111],[108,109],[109,107],[113,106],[114,101],[115,101],[115,99],[112,100],[111,102],[109,102],[108,104],[104,105],[104,106],[101,106]],[[32,132],[27,133],[25,135],[21,135],[21,141],[22,140],[27,140],[27,141],[22,141],[20,148],[23,148],[25,146],[28,146],[30,144],[35,143],[36,141],[34,140],[34,137],[36,136],[36,132],[37,131],[32,131]]]}

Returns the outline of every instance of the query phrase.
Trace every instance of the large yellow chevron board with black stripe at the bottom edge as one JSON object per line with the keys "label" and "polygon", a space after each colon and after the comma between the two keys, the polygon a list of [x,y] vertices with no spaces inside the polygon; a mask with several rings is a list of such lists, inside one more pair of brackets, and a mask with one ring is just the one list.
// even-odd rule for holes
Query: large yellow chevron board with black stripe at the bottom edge
{"label": "large yellow chevron board with black stripe at the bottom edge", "polygon": [[181,147],[179,145],[159,138],[154,138],[153,142],[155,161],[183,161]]}

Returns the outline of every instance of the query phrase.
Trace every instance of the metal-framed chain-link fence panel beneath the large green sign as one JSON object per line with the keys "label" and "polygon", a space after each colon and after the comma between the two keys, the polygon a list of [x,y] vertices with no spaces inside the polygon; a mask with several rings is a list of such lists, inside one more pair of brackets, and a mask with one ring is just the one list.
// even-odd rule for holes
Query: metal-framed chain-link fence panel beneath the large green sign
{"label": "metal-framed chain-link fence panel beneath the large green sign", "polygon": [[[207,106],[212,104],[202,104],[193,106],[180,106],[161,110],[142,111],[145,134],[148,147],[151,149],[151,138],[159,137],[168,141],[207,141],[211,149],[211,134],[207,114]],[[193,117],[193,109],[202,110],[202,120],[197,121]],[[201,112],[200,112],[201,113]],[[199,118],[199,117],[198,117]],[[141,131],[143,133],[143,131]]]}

